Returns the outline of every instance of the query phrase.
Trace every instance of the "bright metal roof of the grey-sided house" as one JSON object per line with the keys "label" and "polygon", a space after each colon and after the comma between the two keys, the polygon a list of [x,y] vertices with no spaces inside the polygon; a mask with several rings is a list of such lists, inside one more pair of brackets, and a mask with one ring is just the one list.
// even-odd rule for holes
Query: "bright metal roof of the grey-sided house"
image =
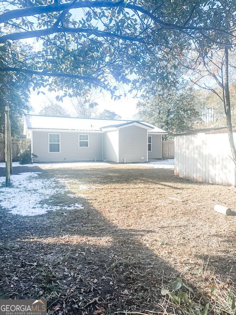
{"label": "bright metal roof of the grey-sided house", "polygon": [[[57,129],[78,131],[102,131],[106,128],[118,128],[130,124],[140,124],[148,127],[152,132],[167,133],[165,130],[150,125],[144,121],[97,119],[79,117],[59,117],[45,115],[25,115],[25,125],[28,129]],[[148,131],[149,132],[149,131]]]}

